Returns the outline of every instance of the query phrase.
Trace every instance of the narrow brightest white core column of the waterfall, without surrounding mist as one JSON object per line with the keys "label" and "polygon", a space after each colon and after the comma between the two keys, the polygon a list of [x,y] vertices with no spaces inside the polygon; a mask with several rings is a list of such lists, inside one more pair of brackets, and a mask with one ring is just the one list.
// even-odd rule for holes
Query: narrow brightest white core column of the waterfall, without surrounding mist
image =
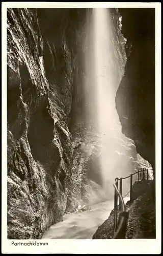
{"label": "narrow brightest white core column of the waterfall, without surrounding mist", "polygon": [[[113,66],[115,63],[112,44],[112,24],[110,11],[108,9],[95,9],[93,15],[94,23],[94,54],[95,54],[95,88],[98,128],[101,134],[101,144],[104,150],[101,152],[101,175],[103,189],[108,191],[108,181],[115,176],[115,161],[118,159],[110,158],[114,151],[111,140],[113,133],[118,137],[117,123],[119,121],[115,106],[115,96],[117,91],[116,76]],[[117,131],[117,134],[116,134]]]}

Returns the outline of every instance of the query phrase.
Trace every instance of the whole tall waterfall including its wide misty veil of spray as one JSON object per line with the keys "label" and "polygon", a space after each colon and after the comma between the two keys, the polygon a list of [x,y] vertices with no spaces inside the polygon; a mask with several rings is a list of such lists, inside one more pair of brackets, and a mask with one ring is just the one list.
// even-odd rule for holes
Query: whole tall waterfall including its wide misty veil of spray
{"label": "whole tall waterfall including its wide misty veil of spray", "polygon": [[114,29],[110,9],[89,11],[85,56],[86,113],[88,121],[93,120],[100,134],[99,172],[105,197],[113,195],[114,179],[131,173],[134,166],[129,146],[131,140],[121,132],[115,105],[125,61],[121,59],[121,43],[119,38],[115,40]]}

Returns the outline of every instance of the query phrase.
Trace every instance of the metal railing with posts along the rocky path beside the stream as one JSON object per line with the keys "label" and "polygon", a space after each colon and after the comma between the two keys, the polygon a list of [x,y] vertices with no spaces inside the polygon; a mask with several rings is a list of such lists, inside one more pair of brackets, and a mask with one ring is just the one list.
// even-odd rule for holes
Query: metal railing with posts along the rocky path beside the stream
{"label": "metal railing with posts along the rocky path beside the stream", "polygon": [[[127,177],[124,178],[116,178],[115,182],[113,184],[115,188],[115,195],[114,195],[114,236],[113,239],[125,239],[125,231],[127,226],[127,220],[128,220],[128,214],[129,212],[126,211],[126,206],[122,197],[122,180],[125,180],[127,178],[130,178],[130,201],[132,201],[132,177],[133,175],[138,174],[138,181],[140,180],[148,180],[148,169],[141,168],[141,170],[138,170],[138,172],[135,172]],[[128,193],[127,193],[128,194]],[[119,219],[118,219],[118,197],[119,197]],[[118,219],[118,224],[117,224]]]}

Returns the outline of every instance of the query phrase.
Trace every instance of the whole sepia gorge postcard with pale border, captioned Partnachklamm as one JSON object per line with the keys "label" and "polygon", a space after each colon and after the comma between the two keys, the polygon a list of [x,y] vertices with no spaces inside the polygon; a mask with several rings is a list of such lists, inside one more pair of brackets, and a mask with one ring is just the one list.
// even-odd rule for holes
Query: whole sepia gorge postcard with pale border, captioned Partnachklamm
{"label": "whole sepia gorge postcard with pale border, captioned Partnachklamm", "polygon": [[5,9],[4,239],[160,241],[156,7],[43,3]]}

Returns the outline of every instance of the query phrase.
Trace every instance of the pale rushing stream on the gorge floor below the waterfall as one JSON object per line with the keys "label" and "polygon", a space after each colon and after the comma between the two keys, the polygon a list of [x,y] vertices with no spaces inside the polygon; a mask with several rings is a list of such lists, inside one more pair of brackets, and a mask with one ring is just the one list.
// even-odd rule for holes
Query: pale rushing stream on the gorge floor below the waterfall
{"label": "pale rushing stream on the gorge floor below the waterfall", "polygon": [[[124,198],[126,203],[128,197]],[[91,210],[64,215],[63,221],[47,229],[42,239],[92,239],[99,225],[110,215],[114,200],[92,206]]]}

